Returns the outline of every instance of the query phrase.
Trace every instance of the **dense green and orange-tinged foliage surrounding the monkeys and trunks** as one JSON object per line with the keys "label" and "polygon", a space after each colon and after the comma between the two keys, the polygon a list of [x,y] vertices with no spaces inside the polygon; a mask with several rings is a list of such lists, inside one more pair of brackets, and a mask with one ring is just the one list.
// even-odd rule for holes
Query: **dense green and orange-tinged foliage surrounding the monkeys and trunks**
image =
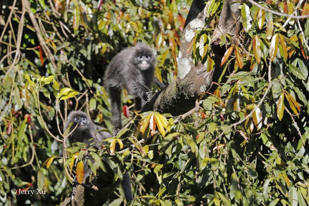
{"label": "dense green and orange-tinged foliage surrounding the monkeys and trunks", "polygon": [[[108,96],[101,82],[104,66],[122,47],[143,40],[158,51],[156,76],[165,84],[171,83],[177,75],[179,38],[191,5],[186,1],[104,1],[98,10],[96,1],[57,0],[52,2],[54,9],[51,1],[30,2],[56,68],[37,47],[37,35],[27,14],[19,37],[22,55],[14,61],[15,53],[10,52],[18,45],[22,5],[17,2],[12,18],[7,19],[11,1],[2,1],[1,30],[10,22],[0,38],[0,200],[4,205],[9,201],[59,204],[71,189],[61,162],[62,144],[44,129],[36,90],[24,74],[35,78],[60,74],[55,77],[60,89],[86,91],[60,102],[63,119],[69,111],[82,108],[97,124],[111,130]],[[309,10],[307,1],[302,2],[298,15],[306,15]],[[133,204],[309,202],[309,48],[305,43],[309,21],[287,21],[287,17],[272,15],[246,2],[241,6],[243,29],[238,45],[230,43],[231,34],[222,35],[221,46],[227,51],[218,60],[208,45],[223,3],[206,3],[208,28],[196,33],[188,48],[196,62],[206,63],[210,70],[221,69],[218,89],[214,94],[201,95],[202,102],[179,118],[144,113],[137,132],[129,138],[138,149],[110,158],[116,164],[109,166],[117,172],[117,167],[122,172],[122,166],[133,169],[134,165]],[[289,0],[260,3],[286,14],[297,10],[297,4]],[[51,83],[44,85],[39,104],[47,127],[60,138],[53,88]],[[125,105],[132,104],[125,91],[123,100]],[[252,116],[247,118],[249,113]],[[246,121],[240,122],[244,118]],[[124,123],[128,120],[124,117]],[[159,132],[154,132],[156,127]],[[151,143],[146,141],[148,146],[139,147],[136,142],[140,137],[149,137]],[[53,156],[49,168],[43,166]],[[119,163],[122,159],[125,164]],[[12,195],[12,188],[44,188],[48,195]],[[120,195],[113,205],[122,202],[121,189],[116,193]]]}

